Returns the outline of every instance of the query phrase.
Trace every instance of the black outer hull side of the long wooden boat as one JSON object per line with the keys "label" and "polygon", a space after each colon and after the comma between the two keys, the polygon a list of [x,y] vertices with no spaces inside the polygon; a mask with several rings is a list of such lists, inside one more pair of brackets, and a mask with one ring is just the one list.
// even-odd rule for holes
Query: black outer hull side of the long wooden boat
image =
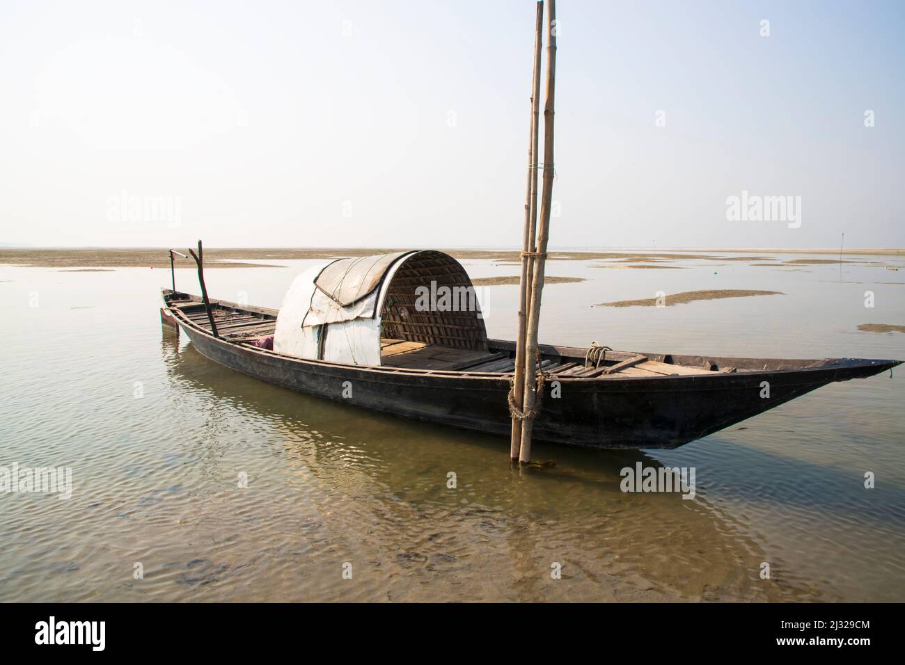
{"label": "black outer hull side of the long wooden boat", "polygon": [[[504,375],[398,372],[310,361],[230,343],[181,322],[180,327],[202,355],[271,384],[418,421],[506,437],[510,433],[510,382]],[[741,365],[744,359],[720,360]],[[703,376],[563,377],[558,381],[550,377],[534,437],[596,449],[677,448],[822,385],[875,375],[898,364],[860,359],[825,362],[825,366]]]}

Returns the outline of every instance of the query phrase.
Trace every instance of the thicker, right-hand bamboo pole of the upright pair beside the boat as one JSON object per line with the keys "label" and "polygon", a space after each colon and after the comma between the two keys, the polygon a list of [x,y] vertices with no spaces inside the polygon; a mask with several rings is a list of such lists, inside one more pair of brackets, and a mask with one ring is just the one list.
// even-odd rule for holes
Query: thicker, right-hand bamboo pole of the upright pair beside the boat
{"label": "thicker, right-hand bamboo pole of the upright pair beside the boat", "polygon": [[538,356],[538,322],[540,320],[540,295],[544,290],[544,268],[547,261],[547,242],[550,230],[550,205],[553,199],[553,109],[556,97],[557,72],[557,4],[547,4],[547,99],[544,101],[544,182],[540,195],[540,228],[538,229],[537,259],[531,283],[531,307],[525,343],[525,411],[529,413],[521,424],[521,450],[519,461],[531,461],[531,432],[534,427],[533,410],[537,404],[535,358]]}

